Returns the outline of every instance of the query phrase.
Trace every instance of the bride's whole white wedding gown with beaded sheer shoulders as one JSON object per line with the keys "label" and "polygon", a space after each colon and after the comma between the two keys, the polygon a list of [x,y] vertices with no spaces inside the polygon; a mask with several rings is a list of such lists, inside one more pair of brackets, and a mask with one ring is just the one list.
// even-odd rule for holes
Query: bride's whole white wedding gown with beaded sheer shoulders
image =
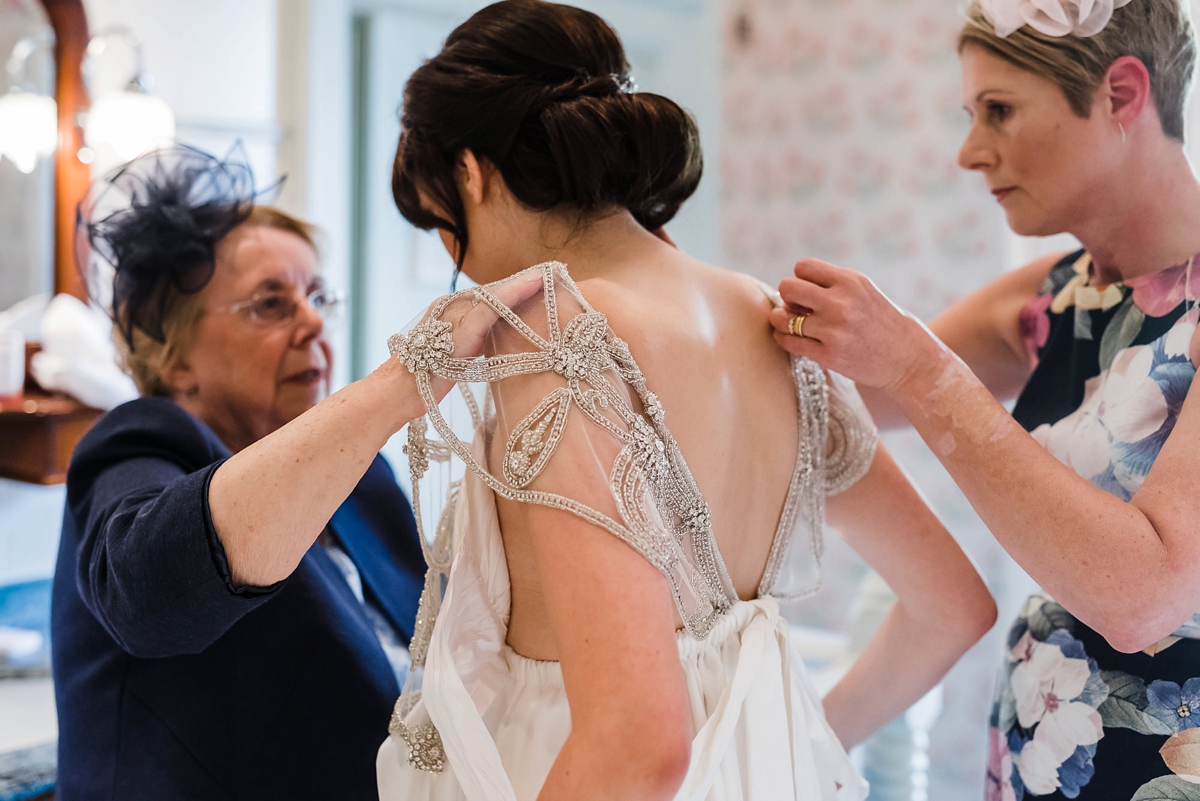
{"label": "bride's whole white wedding gown with beaded sheer shoulders", "polygon": [[[530,272],[541,288],[509,308],[499,296]],[[450,320],[478,303],[499,318],[490,356],[457,359]],[[378,754],[383,801],[532,801],[570,731],[559,664],[505,643],[510,585],[497,495],[607,529],[668,579],[695,721],[677,799],[866,796],[778,607],[816,590],[826,495],[856,482],[874,456],[876,433],[851,384],[793,360],[796,469],[757,597],[740,601],[708,506],[649,389],[653,377],[564,265],[448,295],[389,344],[415,374],[439,439],[427,436],[426,418],[409,426],[414,507],[424,528],[436,520],[437,530],[422,543],[430,570],[413,673]],[[463,392],[469,444],[434,402],[431,381],[439,378],[482,390]],[[455,458],[467,469],[446,481],[444,511],[430,516],[428,480]]]}

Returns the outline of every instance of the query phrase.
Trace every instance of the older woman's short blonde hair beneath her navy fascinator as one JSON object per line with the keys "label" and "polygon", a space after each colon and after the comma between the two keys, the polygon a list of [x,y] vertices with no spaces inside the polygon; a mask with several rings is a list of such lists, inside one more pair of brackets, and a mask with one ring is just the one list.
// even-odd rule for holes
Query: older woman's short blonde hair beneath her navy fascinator
{"label": "older woman's short blonde hair beneath her navy fascinator", "polygon": [[[275,206],[254,206],[242,225],[263,225],[295,234],[305,241],[314,253],[317,248],[317,229],[311,223],[293,217]],[[164,288],[162,342],[158,342],[142,329],[127,326],[125,309],[115,309],[113,341],[116,345],[118,363],[128,373],[137,385],[138,392],[145,396],[169,398],[174,395],[167,383],[166,373],[181,355],[192,347],[196,326],[204,312],[204,290],[196,293],[179,291],[174,285]],[[125,331],[132,331],[132,341],[126,339]]]}

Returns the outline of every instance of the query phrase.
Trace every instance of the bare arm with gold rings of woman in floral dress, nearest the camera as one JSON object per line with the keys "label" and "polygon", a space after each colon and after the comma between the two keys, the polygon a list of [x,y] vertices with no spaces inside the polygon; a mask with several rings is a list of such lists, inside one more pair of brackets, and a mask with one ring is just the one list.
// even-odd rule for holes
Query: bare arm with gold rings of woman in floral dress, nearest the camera
{"label": "bare arm with gold rings of woman in floral dress, nearest the camera", "polygon": [[[785,297],[816,309],[816,325],[805,325],[811,339],[776,333],[781,344],[883,389],[1004,549],[1114,648],[1146,648],[1200,607],[1200,385],[1127,504],[1038,445],[960,359],[864,276],[802,261],[785,284]],[[862,336],[866,319],[876,326],[870,337]],[[772,323],[786,330],[786,313]],[[1193,361],[1196,351],[1194,339]]]}

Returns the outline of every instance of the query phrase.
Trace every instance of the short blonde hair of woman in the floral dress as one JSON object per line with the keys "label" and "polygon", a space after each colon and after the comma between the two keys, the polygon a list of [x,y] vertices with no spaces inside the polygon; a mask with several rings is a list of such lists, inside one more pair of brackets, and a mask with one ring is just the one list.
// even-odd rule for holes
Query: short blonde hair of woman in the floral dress
{"label": "short blonde hair of woman in the floral dress", "polygon": [[968,44],[1042,76],[1062,89],[1072,110],[1091,116],[1092,97],[1112,62],[1132,55],[1146,65],[1163,133],[1183,141],[1183,116],[1195,70],[1196,41],[1180,0],[1129,0],[1096,36],[1046,36],[1028,25],[1001,38],[979,0],[966,12],[959,53]]}

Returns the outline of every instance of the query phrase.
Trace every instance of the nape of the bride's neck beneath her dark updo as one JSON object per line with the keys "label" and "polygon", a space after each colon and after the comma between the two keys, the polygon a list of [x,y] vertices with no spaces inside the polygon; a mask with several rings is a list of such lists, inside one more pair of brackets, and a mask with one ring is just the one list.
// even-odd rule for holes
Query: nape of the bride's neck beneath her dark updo
{"label": "nape of the bride's neck beneath her dark updo", "polygon": [[472,281],[490,283],[542,261],[566,264],[580,281],[595,278],[623,265],[644,264],[667,246],[620,209],[583,219],[518,210],[506,216],[500,237],[480,247],[486,258],[473,259],[474,247],[468,247],[464,271]]}

